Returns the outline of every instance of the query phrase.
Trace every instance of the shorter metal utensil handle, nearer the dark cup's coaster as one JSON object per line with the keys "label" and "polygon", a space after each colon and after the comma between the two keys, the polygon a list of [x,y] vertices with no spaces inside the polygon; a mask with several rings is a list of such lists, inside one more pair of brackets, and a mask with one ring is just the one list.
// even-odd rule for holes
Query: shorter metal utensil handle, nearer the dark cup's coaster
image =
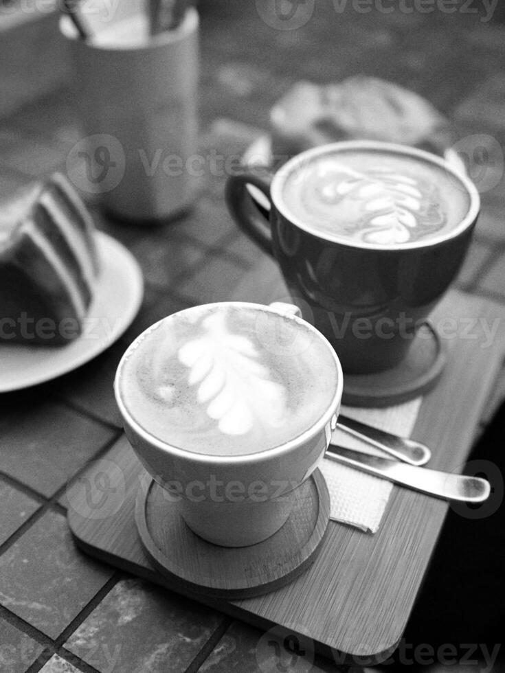
{"label": "shorter metal utensil handle, nearer the dark cup's coaster", "polygon": [[372,446],[381,448],[395,458],[409,463],[410,465],[425,465],[431,458],[431,451],[425,444],[409,440],[407,437],[399,437],[393,435],[379,428],[374,428],[366,423],[347,418],[339,414],[337,427],[352,435],[358,437],[363,442],[367,442]]}

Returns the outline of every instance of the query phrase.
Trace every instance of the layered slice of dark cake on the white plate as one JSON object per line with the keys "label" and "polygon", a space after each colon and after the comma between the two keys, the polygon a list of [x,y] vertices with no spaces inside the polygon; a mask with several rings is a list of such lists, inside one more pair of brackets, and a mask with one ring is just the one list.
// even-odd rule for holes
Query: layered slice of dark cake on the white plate
{"label": "layered slice of dark cake on the white plate", "polygon": [[75,339],[98,271],[93,220],[62,175],[0,205],[0,342]]}

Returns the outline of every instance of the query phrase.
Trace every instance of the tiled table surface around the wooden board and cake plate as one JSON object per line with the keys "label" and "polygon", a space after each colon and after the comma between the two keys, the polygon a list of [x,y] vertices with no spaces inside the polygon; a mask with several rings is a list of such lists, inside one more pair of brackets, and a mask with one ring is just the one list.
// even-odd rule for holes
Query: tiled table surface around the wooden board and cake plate
{"label": "tiled table surface around the wooden board and cake plate", "polygon": [[[298,78],[337,80],[363,71],[425,95],[460,135],[505,139],[505,34],[475,14],[337,14],[317,5],[300,30],[274,30],[254,3],[205,3],[201,148],[240,155],[268,110]],[[0,123],[0,195],[59,168],[81,137],[71,96],[57,91]],[[505,303],[503,158],[458,278],[464,290]],[[500,163],[501,161],[501,163]],[[273,262],[239,233],[223,206],[224,173],[207,175],[186,218],[143,229],[98,226],[139,259],[146,297],[131,328],[95,361],[30,391],[0,397],[0,670],[3,673],[177,673],[275,670],[261,634],[199,604],[83,556],[65,523],[65,490],[120,440],[112,380],[126,345],[170,312],[217,299],[255,300]],[[260,292],[261,290],[261,292]],[[258,295],[258,296],[259,296]],[[505,392],[505,376],[486,418]],[[258,643],[260,643],[258,645]],[[311,670],[311,661],[283,661]],[[312,670],[334,670],[316,659]],[[270,667],[270,668],[269,668]]]}

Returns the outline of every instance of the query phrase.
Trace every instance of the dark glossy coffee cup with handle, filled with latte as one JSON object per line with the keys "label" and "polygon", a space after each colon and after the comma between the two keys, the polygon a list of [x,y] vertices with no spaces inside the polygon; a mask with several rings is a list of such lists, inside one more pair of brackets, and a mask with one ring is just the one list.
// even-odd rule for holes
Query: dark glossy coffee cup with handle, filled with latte
{"label": "dark glossy coffee cup with handle, filled with latte", "polygon": [[[269,221],[250,185],[268,198]],[[244,170],[229,177],[226,199],[353,375],[403,361],[458,273],[480,208],[447,161],[376,141],[307,150],[273,178]]]}

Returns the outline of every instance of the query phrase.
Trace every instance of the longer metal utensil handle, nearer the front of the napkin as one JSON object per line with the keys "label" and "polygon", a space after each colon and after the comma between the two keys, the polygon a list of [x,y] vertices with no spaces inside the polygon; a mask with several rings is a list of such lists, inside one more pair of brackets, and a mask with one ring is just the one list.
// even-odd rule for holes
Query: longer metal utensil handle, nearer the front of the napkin
{"label": "longer metal utensil handle, nearer the front of the napkin", "polygon": [[357,468],[370,475],[394,481],[402,486],[437,498],[465,503],[482,503],[491,493],[491,485],[480,477],[454,475],[452,472],[428,470],[405,465],[395,460],[360,453],[343,446],[330,445],[326,457]]}

